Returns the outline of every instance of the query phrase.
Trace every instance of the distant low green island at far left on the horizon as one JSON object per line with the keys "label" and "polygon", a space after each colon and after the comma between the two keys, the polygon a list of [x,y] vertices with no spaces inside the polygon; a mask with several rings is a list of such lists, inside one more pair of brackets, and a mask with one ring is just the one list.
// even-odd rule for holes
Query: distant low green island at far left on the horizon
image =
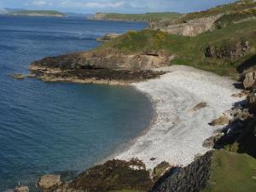
{"label": "distant low green island at far left on the horizon", "polygon": [[66,16],[65,14],[59,11],[53,11],[53,10],[18,10],[18,11],[10,11],[8,15],[53,16],[53,17]]}

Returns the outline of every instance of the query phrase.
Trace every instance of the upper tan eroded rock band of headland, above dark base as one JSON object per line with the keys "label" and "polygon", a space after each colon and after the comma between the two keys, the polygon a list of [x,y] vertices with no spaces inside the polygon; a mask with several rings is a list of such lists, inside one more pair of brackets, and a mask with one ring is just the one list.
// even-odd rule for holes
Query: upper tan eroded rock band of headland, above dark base
{"label": "upper tan eroded rock band of headland, above dark base", "polygon": [[121,53],[82,52],[55,57],[46,57],[32,63],[32,68],[49,67],[60,69],[121,68],[147,70],[170,65],[173,57],[168,55],[124,55]]}

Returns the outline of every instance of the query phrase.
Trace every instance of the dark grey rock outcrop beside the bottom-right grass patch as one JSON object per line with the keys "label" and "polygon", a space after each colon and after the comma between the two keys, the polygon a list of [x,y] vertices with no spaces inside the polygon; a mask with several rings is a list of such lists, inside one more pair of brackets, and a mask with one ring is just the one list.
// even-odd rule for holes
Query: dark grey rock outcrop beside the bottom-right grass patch
{"label": "dark grey rock outcrop beside the bottom-right grass patch", "polygon": [[199,192],[211,175],[213,152],[199,157],[189,166],[174,168],[154,184],[151,192]]}

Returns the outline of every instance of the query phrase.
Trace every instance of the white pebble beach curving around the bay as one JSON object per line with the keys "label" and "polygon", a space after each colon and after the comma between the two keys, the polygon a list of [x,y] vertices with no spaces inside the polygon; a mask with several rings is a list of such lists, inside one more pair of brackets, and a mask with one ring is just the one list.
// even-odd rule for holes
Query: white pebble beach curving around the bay
{"label": "white pebble beach curving around the bay", "polygon": [[[195,160],[196,155],[205,154],[212,149],[204,148],[202,146],[203,142],[208,137],[212,137],[214,131],[224,127],[213,127],[208,123],[230,110],[236,102],[240,102],[243,98],[232,96],[232,94],[236,94],[240,90],[233,85],[236,81],[227,77],[221,77],[214,73],[187,66],[172,66],[157,70],[165,70],[169,73],[160,76],[159,79],[131,84],[135,89],[146,94],[152,103],[154,116],[151,123],[142,134],[131,142],[126,143],[126,148],[120,148],[118,153],[113,154],[111,157],[118,160],[138,158],[143,160],[148,169],[154,169],[162,161],[166,161],[173,166],[187,166]],[[178,88],[177,82],[172,82],[177,76],[181,76],[178,79],[179,83],[186,84],[189,80],[184,78],[188,74],[191,75],[190,80],[192,80],[192,84],[189,84],[190,87],[195,83],[199,83],[195,91],[193,91],[193,88],[192,91],[191,89],[189,90],[188,85]],[[217,81],[213,80],[211,82],[210,79]],[[212,86],[214,87],[210,94],[216,92],[216,89],[220,90],[220,92],[217,91],[217,94],[212,95],[212,98],[211,96],[209,97],[209,94],[200,96],[200,93],[195,93],[197,90],[206,89],[209,84],[211,84],[211,86],[208,86],[209,90],[211,90]],[[162,92],[161,88],[159,88],[160,85],[163,85],[162,89],[166,89],[167,85],[171,85],[173,90]],[[177,98],[172,100],[175,96]],[[189,98],[190,96],[191,98]],[[214,99],[214,96],[222,98],[223,101]],[[218,103],[218,101],[220,102]],[[207,102],[207,107],[191,112],[190,110],[200,102]],[[182,109],[177,110],[178,107]],[[191,125],[188,124],[189,122]],[[198,126],[198,129],[193,126]],[[152,158],[156,159],[150,160]]]}

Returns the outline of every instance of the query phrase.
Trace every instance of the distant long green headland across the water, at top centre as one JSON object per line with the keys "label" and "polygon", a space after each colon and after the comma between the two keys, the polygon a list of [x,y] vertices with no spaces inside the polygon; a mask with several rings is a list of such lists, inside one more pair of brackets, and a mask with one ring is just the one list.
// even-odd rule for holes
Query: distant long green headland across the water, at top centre
{"label": "distant long green headland across the water, at top centre", "polygon": [[135,20],[135,21],[153,21],[172,19],[181,16],[175,12],[166,13],[147,13],[147,14],[105,14],[97,13],[92,19],[94,20]]}

